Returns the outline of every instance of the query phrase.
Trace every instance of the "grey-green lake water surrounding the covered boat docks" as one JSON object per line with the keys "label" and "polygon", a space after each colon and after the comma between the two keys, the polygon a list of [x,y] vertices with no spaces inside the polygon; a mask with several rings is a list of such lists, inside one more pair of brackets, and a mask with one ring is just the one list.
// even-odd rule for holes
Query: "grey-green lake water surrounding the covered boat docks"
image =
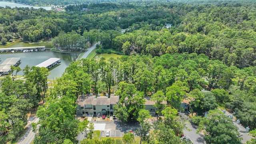
{"label": "grey-green lake water surrounding the covered boat docks", "polygon": [[[24,46],[46,46],[46,48],[51,48],[51,44],[27,44],[20,41],[14,42],[8,46],[0,46],[0,48],[15,48],[15,47],[24,47]],[[21,64],[19,65],[21,69],[24,69],[26,65],[32,67],[48,60],[49,58],[60,58],[60,65],[56,65],[53,68],[50,68],[49,79],[55,79],[56,77],[61,77],[65,69],[69,66],[70,62],[76,61],[76,58],[79,54],[66,54],[59,52],[52,52],[50,50],[37,51],[37,52],[3,52],[0,53],[1,62],[4,62],[6,58],[21,58]],[[18,72],[18,75],[23,75],[23,72]]]}

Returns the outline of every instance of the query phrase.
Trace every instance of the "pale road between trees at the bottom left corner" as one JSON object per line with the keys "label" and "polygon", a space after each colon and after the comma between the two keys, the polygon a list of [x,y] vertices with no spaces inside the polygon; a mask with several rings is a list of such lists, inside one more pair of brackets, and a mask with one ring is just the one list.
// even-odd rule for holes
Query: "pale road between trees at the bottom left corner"
{"label": "pale road between trees at the bottom left corner", "polygon": [[30,144],[32,142],[32,140],[35,137],[35,133],[32,132],[32,122],[37,123],[39,121],[39,118],[37,118],[36,116],[30,116],[30,118],[28,118],[28,124],[27,124],[27,132],[22,136],[22,138],[20,138],[20,140],[18,141],[18,144]]}

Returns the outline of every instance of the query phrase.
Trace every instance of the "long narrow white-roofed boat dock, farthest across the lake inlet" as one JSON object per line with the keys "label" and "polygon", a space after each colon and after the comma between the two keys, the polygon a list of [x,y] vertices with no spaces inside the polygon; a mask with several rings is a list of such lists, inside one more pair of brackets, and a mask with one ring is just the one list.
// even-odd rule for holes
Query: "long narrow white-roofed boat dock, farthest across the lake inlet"
{"label": "long narrow white-roofed boat dock, farthest across the lake inlet", "polygon": [[3,52],[33,52],[33,51],[44,51],[45,46],[28,46],[18,48],[0,48],[0,53]]}

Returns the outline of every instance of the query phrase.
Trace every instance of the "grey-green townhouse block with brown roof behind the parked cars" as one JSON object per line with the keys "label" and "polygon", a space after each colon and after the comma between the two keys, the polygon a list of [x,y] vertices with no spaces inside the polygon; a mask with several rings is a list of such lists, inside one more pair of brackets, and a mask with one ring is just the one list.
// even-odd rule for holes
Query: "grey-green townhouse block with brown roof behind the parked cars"
{"label": "grey-green townhouse block with brown roof behind the parked cars", "polygon": [[97,114],[113,114],[113,106],[118,104],[119,96],[114,96],[114,94],[110,94],[110,98],[107,96],[90,96],[90,94],[86,94],[86,96],[78,96],[76,100],[76,114],[78,115],[97,115]]}

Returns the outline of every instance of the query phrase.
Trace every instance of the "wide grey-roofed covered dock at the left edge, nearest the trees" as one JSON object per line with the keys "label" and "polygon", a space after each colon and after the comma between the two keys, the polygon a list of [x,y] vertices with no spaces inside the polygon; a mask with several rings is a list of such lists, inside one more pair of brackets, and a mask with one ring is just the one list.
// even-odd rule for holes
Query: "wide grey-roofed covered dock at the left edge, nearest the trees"
{"label": "wide grey-roofed covered dock at the left edge, nearest the trees", "polygon": [[9,74],[12,71],[11,66],[17,66],[20,62],[20,58],[7,58],[0,65],[0,74]]}

